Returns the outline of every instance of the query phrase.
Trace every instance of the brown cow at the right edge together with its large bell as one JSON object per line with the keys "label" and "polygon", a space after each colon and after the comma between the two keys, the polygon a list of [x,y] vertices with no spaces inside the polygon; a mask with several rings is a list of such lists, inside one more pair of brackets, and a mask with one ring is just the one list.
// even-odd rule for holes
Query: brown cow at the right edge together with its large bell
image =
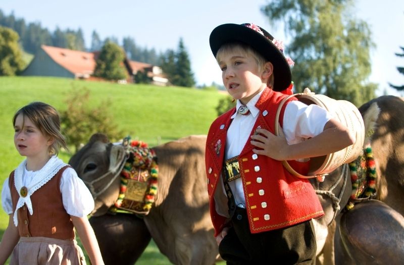
{"label": "brown cow at the right edge together with its large bell", "polygon": [[[339,216],[337,222],[328,227],[330,233],[322,249],[323,260],[317,263],[334,264],[333,236],[336,231],[335,264],[382,264],[381,260],[386,258],[390,265],[401,264],[402,258],[398,257],[404,255],[404,101],[396,96],[380,96],[362,105],[359,111],[366,130],[364,145],[370,143],[376,161],[375,199],[381,202],[360,203],[354,210]],[[365,216],[368,216],[366,220],[363,219]],[[364,231],[368,226],[373,229],[366,237]],[[395,230],[389,230],[392,233],[387,233],[390,235],[387,238],[386,231],[380,228]],[[391,246],[387,247],[386,242]]]}

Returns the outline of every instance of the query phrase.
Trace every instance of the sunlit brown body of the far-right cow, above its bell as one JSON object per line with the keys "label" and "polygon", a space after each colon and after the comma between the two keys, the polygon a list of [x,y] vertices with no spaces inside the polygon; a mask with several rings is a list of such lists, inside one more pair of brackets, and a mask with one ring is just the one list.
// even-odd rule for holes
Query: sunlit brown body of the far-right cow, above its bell
{"label": "sunlit brown body of the far-right cow, above its bell", "polygon": [[404,101],[381,96],[362,105],[359,111],[365,121],[374,122],[365,141],[370,141],[377,162],[376,199],[404,215]]}

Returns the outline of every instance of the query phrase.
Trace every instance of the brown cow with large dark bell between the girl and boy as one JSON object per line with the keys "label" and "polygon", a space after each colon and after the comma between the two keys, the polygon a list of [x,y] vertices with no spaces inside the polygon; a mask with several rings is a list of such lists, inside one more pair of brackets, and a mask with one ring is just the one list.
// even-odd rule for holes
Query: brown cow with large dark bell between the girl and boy
{"label": "brown cow with large dark bell between the girl and boy", "polygon": [[[133,264],[150,235],[174,264],[215,263],[218,248],[206,191],[205,143],[206,136],[189,136],[153,148],[159,163],[158,193],[143,220],[105,215],[119,195],[120,178],[114,173],[119,173],[116,169],[124,151],[120,150],[122,145],[113,145],[106,136],[95,134],[72,156],[69,163],[79,177],[92,182],[89,188],[95,218],[90,222],[106,263]],[[108,172],[111,174],[105,175]],[[97,183],[94,180],[99,176],[107,177]],[[122,237],[117,238],[117,234]]]}

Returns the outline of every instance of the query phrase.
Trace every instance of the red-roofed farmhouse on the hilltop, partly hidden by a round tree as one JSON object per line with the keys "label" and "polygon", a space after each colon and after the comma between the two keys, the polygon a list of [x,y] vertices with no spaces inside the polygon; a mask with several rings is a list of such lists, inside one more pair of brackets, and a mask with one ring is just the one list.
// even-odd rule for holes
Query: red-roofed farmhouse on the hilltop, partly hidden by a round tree
{"label": "red-roofed farmhouse on the hilltop, partly hidden by a round tree", "polygon": [[[55,76],[74,79],[93,79],[91,76],[96,65],[99,51],[86,52],[60,47],[41,45],[34,59],[21,73],[22,76]],[[152,84],[165,86],[168,79],[160,67],[124,59],[123,65],[128,71],[128,83],[134,83],[134,77],[141,72]]]}

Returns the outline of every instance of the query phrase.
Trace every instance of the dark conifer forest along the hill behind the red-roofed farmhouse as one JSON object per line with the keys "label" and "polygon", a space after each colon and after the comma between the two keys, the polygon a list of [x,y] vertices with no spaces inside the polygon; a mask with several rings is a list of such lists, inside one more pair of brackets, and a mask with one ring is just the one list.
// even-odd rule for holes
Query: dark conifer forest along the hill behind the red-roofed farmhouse
{"label": "dark conifer forest along the hill behind the red-roofed farmhouse", "polygon": [[[184,47],[182,39],[179,40],[178,50],[168,49],[165,52],[158,53],[155,48],[148,49],[137,45],[132,37],[124,37],[122,44],[120,44],[116,37],[107,37],[103,40],[100,38],[99,34],[93,30],[91,34],[91,45],[89,48],[86,48],[81,28],[78,30],[62,30],[57,27],[54,32],[51,32],[47,28],[42,27],[40,22],[27,23],[23,18],[16,18],[14,13],[8,16],[5,15],[2,10],[0,10],[0,26],[14,30],[17,33],[19,45],[23,51],[28,54],[35,54],[42,44],[81,51],[99,51],[103,48],[111,48],[111,43],[114,43],[124,50],[125,54],[123,57],[126,56],[129,60],[162,66],[163,72],[165,72],[171,84],[187,87],[195,85],[188,52]],[[5,32],[5,30],[2,30],[2,32]],[[11,33],[7,33],[8,39],[10,39],[10,34]],[[14,38],[15,36],[12,37],[12,39]],[[112,49],[116,50],[115,47]],[[172,55],[174,56],[174,60],[172,60]],[[168,58],[168,56],[170,56],[170,58]],[[167,67],[163,66],[163,64],[167,65],[166,62],[168,61],[170,62],[170,67],[173,67],[172,69],[167,69]],[[21,63],[17,63],[17,65],[21,65]],[[18,69],[18,67],[16,67],[16,69],[15,74],[18,74],[19,71],[22,70]],[[168,70],[167,73],[165,70]],[[8,71],[0,71],[0,75],[5,75],[10,72],[10,69]],[[141,75],[141,73],[139,73],[139,75]],[[143,77],[137,78],[137,81],[147,83],[150,80]]]}

